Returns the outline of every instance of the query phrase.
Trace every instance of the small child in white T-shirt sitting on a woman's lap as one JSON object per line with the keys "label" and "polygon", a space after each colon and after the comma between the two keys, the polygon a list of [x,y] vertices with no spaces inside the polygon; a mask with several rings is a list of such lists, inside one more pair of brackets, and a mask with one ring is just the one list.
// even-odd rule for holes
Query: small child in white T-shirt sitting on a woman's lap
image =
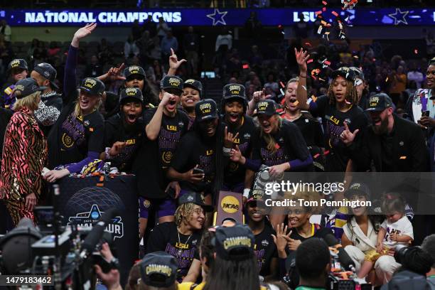
{"label": "small child in white T-shirt sitting on a woman's lap", "polygon": [[397,245],[409,245],[414,240],[414,230],[411,222],[404,215],[405,202],[400,195],[387,193],[382,200],[381,208],[386,219],[377,233],[376,249],[365,254],[358,278],[367,276],[377,259],[388,254],[390,249],[394,249]]}

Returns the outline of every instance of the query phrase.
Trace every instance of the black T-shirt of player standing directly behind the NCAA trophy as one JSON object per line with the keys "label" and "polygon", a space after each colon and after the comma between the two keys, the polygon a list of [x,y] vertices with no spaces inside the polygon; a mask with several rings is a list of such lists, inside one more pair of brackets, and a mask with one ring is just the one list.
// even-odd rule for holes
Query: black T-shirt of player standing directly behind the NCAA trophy
{"label": "black T-shirt of player standing directly behind the NCAA trophy", "polygon": [[[225,128],[228,127],[228,131],[232,134],[239,133],[237,139],[235,139],[234,144],[239,146],[240,151],[243,156],[251,156],[252,152],[252,137],[257,130],[255,127],[254,120],[251,117],[245,116],[242,119],[242,126],[239,128],[232,128],[225,124],[225,117],[222,117],[222,125]],[[227,167],[224,171],[224,183],[230,186],[235,186],[238,183],[245,181],[245,166],[240,166],[237,162],[229,161]]]}

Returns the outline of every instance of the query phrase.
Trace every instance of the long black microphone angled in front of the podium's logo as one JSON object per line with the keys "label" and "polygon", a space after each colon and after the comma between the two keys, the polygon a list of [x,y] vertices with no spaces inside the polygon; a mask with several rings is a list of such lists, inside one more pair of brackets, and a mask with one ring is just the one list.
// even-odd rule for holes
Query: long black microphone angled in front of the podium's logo
{"label": "long black microphone angled in front of the podium's logo", "polygon": [[82,252],[80,252],[80,257],[84,258],[87,254],[94,251],[98,242],[100,242],[104,229],[107,224],[112,221],[112,218],[119,215],[119,211],[116,208],[110,208],[106,210],[100,218],[100,221],[92,227],[92,230],[87,234],[85,240],[82,243]]}

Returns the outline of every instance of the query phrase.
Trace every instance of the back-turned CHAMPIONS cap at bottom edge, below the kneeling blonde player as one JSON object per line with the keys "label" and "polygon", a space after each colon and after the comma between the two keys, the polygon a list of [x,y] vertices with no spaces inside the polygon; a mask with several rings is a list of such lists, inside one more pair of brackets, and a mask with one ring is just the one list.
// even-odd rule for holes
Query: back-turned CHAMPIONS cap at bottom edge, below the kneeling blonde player
{"label": "back-turned CHAMPIONS cap at bottom edge, below the kneeling blonde player", "polygon": [[158,251],[146,254],[140,262],[141,279],[154,287],[170,287],[176,282],[178,263],[175,257]]}

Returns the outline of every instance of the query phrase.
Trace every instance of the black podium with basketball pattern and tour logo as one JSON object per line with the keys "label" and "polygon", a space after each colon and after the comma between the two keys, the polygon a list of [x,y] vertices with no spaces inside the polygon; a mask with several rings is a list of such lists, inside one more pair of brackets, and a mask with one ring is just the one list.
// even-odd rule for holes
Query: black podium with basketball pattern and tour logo
{"label": "black podium with basketball pattern and tour logo", "polygon": [[[129,269],[139,255],[138,198],[135,176],[114,176],[99,181],[100,177],[65,177],[59,181],[58,206],[64,225],[74,223],[89,226],[109,208],[117,208],[120,215],[112,220],[107,231],[112,232],[117,248],[122,284],[127,281]],[[99,183],[99,186],[97,186]],[[135,247],[136,246],[136,247]]]}

